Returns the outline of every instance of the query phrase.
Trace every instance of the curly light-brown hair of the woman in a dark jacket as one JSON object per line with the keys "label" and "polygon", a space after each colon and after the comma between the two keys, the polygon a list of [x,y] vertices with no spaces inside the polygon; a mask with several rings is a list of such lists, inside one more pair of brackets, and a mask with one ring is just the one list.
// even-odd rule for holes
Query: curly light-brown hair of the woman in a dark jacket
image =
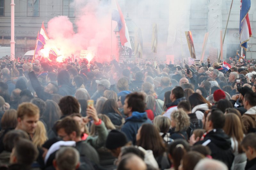
{"label": "curly light-brown hair of the woman in a dark jacket", "polygon": [[188,129],[190,125],[190,119],[188,114],[183,109],[179,109],[177,111],[172,112],[171,117],[172,121],[176,122],[176,132]]}

